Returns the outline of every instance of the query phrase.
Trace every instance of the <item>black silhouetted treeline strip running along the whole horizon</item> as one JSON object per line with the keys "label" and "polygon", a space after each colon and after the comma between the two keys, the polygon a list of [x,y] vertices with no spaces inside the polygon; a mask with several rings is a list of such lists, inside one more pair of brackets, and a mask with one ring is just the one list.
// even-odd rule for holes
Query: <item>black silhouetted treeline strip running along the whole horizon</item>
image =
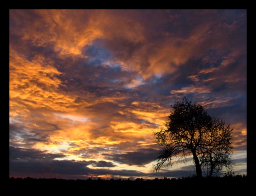
{"label": "black silhouetted treeline strip running along the whole horizon", "polygon": [[[212,185],[219,185],[219,186],[226,186],[228,184],[232,184],[235,186],[236,184],[239,186],[245,185],[247,183],[247,176],[246,175],[230,175],[230,176],[223,176],[223,177],[183,177],[183,178],[155,178],[154,180],[145,180],[143,178],[137,178],[135,180],[130,179],[116,179],[113,178],[110,180],[105,180],[102,178],[98,179],[91,179],[88,178],[87,180],[65,180],[60,178],[14,178],[9,177],[10,185],[47,185],[47,186],[70,186],[70,185],[77,185],[77,186],[84,186],[84,187],[111,187],[111,186],[124,186],[124,187],[131,187],[131,186],[147,186],[147,187],[177,187],[177,186],[196,186],[202,187],[204,185],[212,186]],[[225,185],[226,184],[226,185]]]}

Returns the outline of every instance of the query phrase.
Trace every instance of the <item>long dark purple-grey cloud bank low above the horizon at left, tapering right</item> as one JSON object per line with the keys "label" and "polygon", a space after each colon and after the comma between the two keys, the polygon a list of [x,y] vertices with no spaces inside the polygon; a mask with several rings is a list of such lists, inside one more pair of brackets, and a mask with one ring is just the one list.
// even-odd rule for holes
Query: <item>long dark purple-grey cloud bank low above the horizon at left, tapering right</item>
{"label": "long dark purple-grey cloud bank low above the horizon at left, tapering right", "polygon": [[22,175],[23,177],[47,178],[61,176],[73,179],[88,178],[90,175],[145,176],[141,172],[125,169],[117,171],[90,169],[87,166],[91,164],[97,167],[114,167],[115,165],[107,161],[53,160],[53,158],[63,156],[32,149],[10,147],[10,155],[10,176]]}

